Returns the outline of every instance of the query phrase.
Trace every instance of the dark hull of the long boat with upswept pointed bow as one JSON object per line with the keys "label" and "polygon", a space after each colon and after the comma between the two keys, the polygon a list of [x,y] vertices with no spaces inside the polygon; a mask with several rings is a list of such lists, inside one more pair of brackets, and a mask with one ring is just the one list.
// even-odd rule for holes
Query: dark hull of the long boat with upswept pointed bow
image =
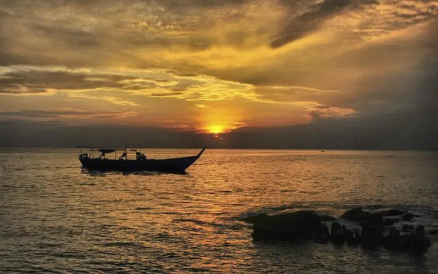
{"label": "dark hull of the long boat with upswept pointed bow", "polygon": [[[205,148],[204,148],[205,149]],[[198,155],[170,158],[170,159],[148,159],[148,160],[110,160],[90,159],[79,155],[79,161],[86,169],[97,171],[161,171],[161,172],[184,172],[204,152],[201,150]]]}

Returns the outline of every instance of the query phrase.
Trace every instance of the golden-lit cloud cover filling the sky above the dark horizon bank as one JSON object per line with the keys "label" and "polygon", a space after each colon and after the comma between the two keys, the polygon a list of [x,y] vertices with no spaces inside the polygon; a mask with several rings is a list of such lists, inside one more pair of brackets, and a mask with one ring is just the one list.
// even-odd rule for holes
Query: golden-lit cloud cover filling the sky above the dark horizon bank
{"label": "golden-lit cloud cover filling the sky above the dark horizon bank", "polygon": [[127,108],[195,128],[215,111],[203,123],[422,121],[434,106],[438,1],[0,3],[3,111]]}

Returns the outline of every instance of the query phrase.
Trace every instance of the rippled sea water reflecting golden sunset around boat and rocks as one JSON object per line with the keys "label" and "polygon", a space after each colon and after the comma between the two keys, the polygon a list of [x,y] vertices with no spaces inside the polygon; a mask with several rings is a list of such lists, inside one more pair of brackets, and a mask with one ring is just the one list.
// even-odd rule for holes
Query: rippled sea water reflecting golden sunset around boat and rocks
{"label": "rippled sea water reflecting golden sunset around boat and rocks", "polygon": [[[149,158],[196,149],[143,149]],[[185,175],[90,173],[79,149],[0,149],[0,273],[438,273],[422,256],[253,242],[260,212],[390,207],[438,229],[438,153],[207,149]],[[398,225],[402,225],[399,223]]]}

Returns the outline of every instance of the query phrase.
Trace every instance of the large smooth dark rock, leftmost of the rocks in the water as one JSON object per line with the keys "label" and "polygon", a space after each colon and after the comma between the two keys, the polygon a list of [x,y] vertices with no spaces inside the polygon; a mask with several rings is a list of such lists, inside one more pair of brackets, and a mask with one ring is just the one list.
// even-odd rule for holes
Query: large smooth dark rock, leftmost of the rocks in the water
{"label": "large smooth dark rock, leftmost of the rocks in the water", "polygon": [[320,217],[312,211],[297,211],[254,220],[254,240],[297,240],[314,238],[321,230]]}

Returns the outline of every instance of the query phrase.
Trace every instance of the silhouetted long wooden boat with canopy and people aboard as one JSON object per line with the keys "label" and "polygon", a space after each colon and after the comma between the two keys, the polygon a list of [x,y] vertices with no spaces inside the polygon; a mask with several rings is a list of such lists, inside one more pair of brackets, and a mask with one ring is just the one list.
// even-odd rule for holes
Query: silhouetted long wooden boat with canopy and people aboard
{"label": "silhouetted long wooden boat with canopy and people aboard", "polygon": [[[189,166],[201,157],[205,148],[206,147],[204,147],[197,155],[168,159],[149,159],[136,149],[131,149],[130,151],[136,151],[135,160],[128,159],[127,149],[96,148],[90,149],[90,154],[81,152],[79,155],[79,161],[81,161],[83,168],[96,171],[159,171],[184,173],[185,169],[188,169]],[[99,151],[101,153],[99,158],[94,158],[94,151]],[[118,159],[116,158],[117,151],[124,151]],[[113,152],[114,159],[105,157],[107,153]]]}

